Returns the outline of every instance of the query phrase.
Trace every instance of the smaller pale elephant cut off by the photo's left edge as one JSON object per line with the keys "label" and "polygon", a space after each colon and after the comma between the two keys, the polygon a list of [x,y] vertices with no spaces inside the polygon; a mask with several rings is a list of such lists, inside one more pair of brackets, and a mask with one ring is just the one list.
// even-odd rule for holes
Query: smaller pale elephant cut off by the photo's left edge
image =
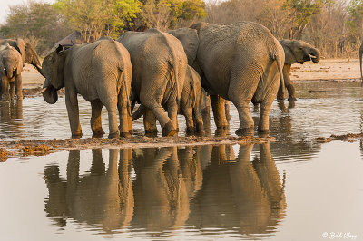
{"label": "smaller pale elephant cut off by the photo's left edge", "polygon": [[9,44],[0,46],[0,100],[14,100],[14,87],[17,101],[23,101],[22,75],[23,60],[16,49]]}

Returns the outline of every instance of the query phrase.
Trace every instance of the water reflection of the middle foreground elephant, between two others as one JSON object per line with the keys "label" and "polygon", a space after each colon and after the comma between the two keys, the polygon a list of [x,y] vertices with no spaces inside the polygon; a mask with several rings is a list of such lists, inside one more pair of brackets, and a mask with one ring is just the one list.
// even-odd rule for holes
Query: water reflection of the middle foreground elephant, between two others
{"label": "water reflection of the middle foreground elephant, between two others", "polygon": [[[191,170],[185,163],[181,167],[177,147],[142,149],[142,153],[134,152],[132,159],[136,173],[132,226],[144,227],[158,236],[169,227],[184,225],[190,214],[191,189],[198,184],[186,184],[183,175]],[[201,173],[199,164],[188,165]],[[199,182],[200,179],[195,181]]]}

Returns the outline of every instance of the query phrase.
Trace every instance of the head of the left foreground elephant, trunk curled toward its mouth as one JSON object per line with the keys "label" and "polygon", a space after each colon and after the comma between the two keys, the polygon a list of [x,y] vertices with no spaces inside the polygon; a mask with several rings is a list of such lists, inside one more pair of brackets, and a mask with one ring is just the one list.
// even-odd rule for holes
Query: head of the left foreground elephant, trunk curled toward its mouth
{"label": "head of the left foreground elephant, trunk curled toward its mouth", "polygon": [[59,45],[56,50],[46,55],[43,61],[42,69],[45,73],[45,82],[43,85],[44,101],[54,104],[58,101],[57,91],[64,87],[64,47]]}

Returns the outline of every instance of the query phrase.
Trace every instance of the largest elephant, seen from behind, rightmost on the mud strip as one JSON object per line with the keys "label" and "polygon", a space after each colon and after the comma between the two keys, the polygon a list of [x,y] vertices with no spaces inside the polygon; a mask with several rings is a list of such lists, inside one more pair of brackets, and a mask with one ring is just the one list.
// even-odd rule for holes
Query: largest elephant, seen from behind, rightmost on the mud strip
{"label": "largest elephant, seen from behind, rightmost on the mud strip", "polygon": [[[195,32],[194,30],[197,30]],[[217,128],[228,127],[224,100],[232,101],[240,117],[239,136],[253,135],[250,101],[260,103],[258,130],[269,132],[270,106],[283,82],[285,53],[264,26],[250,22],[231,25],[199,23],[176,30],[197,43],[183,43],[186,53],[197,53],[192,67],[201,75],[202,87],[211,95]],[[189,47],[193,49],[188,50]],[[188,56],[192,58],[192,56]],[[280,76],[279,76],[280,73]],[[279,78],[280,77],[280,78]],[[283,84],[283,83],[282,83]]]}

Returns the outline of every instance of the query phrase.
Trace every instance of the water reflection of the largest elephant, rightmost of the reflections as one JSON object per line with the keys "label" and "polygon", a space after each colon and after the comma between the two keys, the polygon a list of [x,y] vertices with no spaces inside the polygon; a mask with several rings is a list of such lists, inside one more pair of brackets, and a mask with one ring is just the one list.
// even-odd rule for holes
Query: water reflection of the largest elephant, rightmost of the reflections
{"label": "water reflection of the largest elephant, rightmost of the reflections", "polygon": [[187,225],[223,227],[243,235],[271,232],[284,216],[284,182],[270,155],[260,145],[260,159],[250,162],[253,145],[241,145],[235,159],[232,146],[214,146],[211,164],[203,172],[203,188],[191,201]]}

